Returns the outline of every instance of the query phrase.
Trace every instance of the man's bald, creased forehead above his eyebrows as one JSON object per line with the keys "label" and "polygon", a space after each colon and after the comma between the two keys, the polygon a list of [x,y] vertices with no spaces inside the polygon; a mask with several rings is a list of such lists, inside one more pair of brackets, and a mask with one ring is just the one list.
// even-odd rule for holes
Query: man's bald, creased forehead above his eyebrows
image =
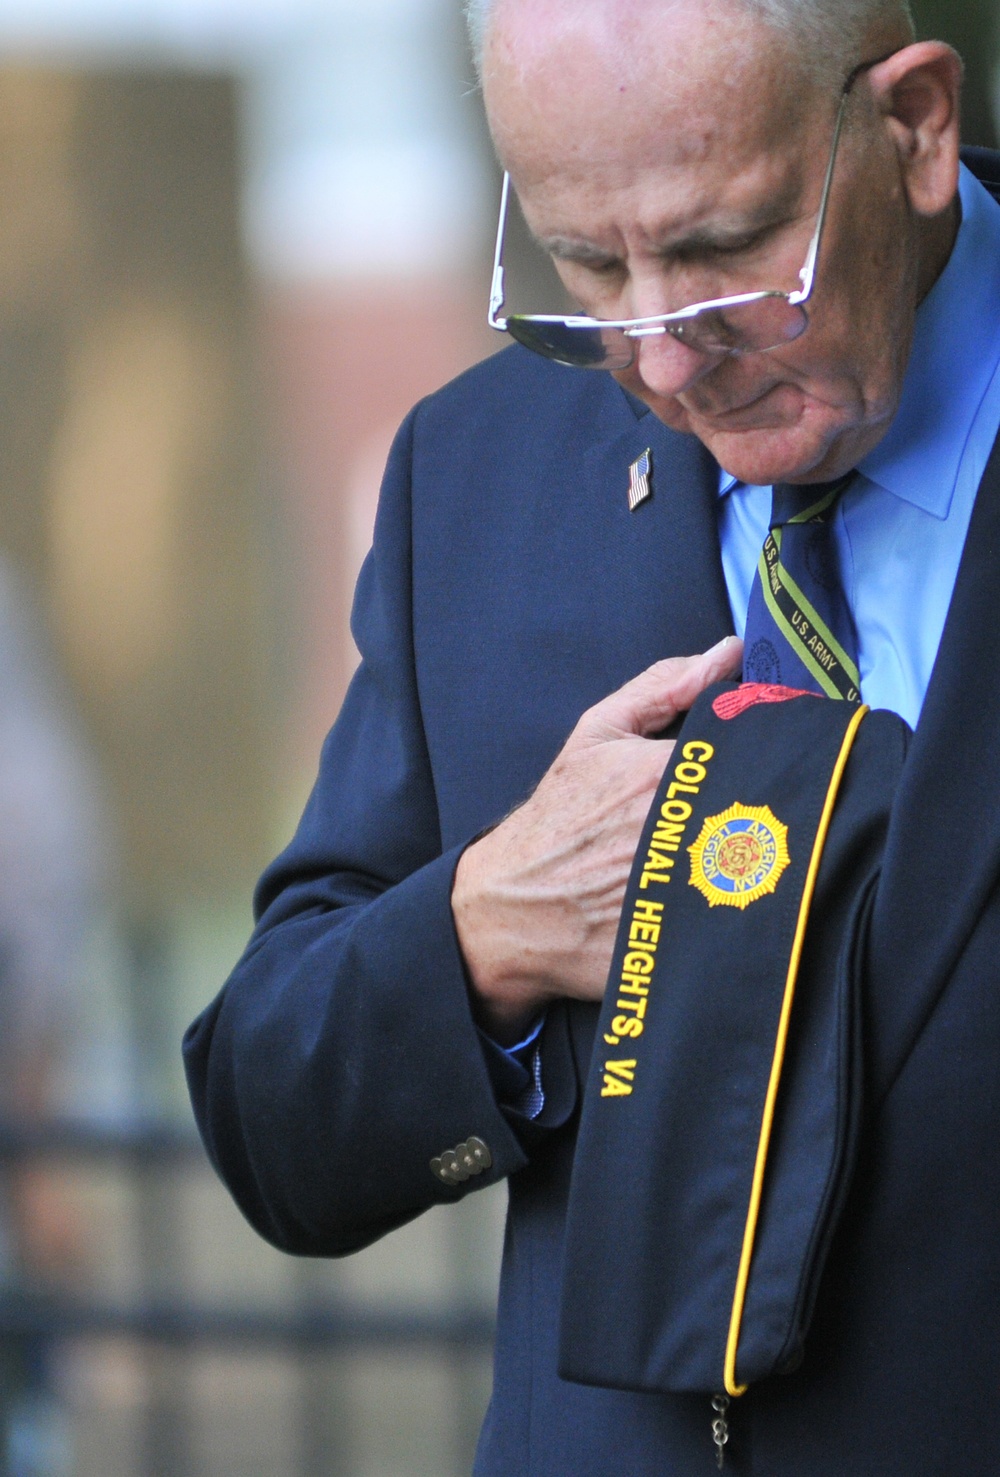
{"label": "man's bald, creased forehead above his eyebrows", "polygon": [[651,193],[678,226],[755,208],[795,188],[812,126],[833,115],[786,43],[731,0],[496,3],[486,106],[542,233]]}

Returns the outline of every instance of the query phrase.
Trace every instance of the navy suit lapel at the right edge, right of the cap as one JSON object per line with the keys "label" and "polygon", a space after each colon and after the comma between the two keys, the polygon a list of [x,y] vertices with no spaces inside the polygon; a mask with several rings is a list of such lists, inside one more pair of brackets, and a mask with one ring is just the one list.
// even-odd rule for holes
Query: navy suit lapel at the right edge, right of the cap
{"label": "navy suit lapel at the right edge, right of the cap", "polygon": [[892,812],[871,931],[871,1072],[892,1084],[1000,871],[1000,439]]}

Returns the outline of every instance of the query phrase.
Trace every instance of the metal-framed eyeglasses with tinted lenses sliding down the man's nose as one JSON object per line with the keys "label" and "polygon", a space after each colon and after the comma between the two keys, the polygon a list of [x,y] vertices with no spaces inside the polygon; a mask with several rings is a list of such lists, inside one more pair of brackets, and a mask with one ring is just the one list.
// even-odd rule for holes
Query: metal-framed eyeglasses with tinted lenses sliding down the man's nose
{"label": "metal-framed eyeglasses with tinted lenses sliding down the man's nose", "polygon": [[718,297],[705,303],[691,303],[675,313],[657,313],[654,318],[601,319],[570,313],[511,313],[499,318],[504,307],[504,230],[510,202],[511,179],[504,173],[501,191],[499,222],[496,226],[496,250],[493,253],[493,284],[489,298],[487,323],[501,334],[510,334],[526,349],[545,359],[573,365],[578,369],[628,369],[637,354],[637,340],[659,338],[669,334],[703,354],[753,354],[765,349],[789,344],[805,332],[809,322],[805,303],[815,285],[815,266],[823,239],[833,165],[843,130],[851,89],[863,72],[894,53],[861,62],[848,75],[840,92],[840,106],[833,126],[830,161],[823,180],[823,195],[815,219],[815,230],[799,272],[799,284],[793,292],[764,291],[739,292],[736,297]]}

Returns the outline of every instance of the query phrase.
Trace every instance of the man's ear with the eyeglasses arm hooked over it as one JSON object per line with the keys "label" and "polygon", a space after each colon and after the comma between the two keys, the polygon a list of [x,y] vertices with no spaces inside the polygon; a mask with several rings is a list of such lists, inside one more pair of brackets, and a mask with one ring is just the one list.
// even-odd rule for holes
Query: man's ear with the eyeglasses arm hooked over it
{"label": "man's ear with the eyeglasses arm hooked over it", "polygon": [[944,41],[904,46],[870,71],[917,216],[938,216],[959,188],[962,58]]}

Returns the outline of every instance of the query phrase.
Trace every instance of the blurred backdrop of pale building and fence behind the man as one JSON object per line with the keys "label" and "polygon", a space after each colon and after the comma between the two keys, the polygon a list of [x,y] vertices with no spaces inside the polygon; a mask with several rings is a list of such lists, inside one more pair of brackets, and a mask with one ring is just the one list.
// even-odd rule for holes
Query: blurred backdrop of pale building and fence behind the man
{"label": "blurred backdrop of pale building and fence behind the man", "polygon": [[[993,143],[994,6],[916,12]],[[470,1470],[502,1192],[282,1258],[177,1047],[356,662],[393,430],[498,347],[496,186],[456,0],[0,0],[0,1477]]]}

